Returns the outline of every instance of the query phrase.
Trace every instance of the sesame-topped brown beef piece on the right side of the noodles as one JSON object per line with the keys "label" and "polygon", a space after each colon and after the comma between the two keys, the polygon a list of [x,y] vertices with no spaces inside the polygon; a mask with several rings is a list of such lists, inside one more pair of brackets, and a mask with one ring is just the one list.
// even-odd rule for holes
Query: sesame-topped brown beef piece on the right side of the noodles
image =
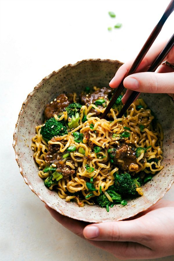
{"label": "sesame-topped brown beef piece on the right side of the noodles", "polygon": [[128,150],[128,148],[127,144],[122,144],[119,148],[116,148],[116,155],[113,158],[114,164],[122,171],[136,171],[138,165],[135,152],[131,148]]}

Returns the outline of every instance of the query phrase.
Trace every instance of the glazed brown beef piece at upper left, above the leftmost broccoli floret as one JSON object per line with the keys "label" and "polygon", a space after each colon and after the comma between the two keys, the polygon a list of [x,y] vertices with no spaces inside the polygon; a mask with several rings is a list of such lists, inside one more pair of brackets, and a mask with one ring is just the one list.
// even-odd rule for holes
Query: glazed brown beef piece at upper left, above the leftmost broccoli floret
{"label": "glazed brown beef piece at upper left, above the leftmost broccoli floret", "polygon": [[44,110],[45,119],[54,117],[54,114],[58,115],[59,113],[62,113],[64,108],[70,103],[73,103],[73,93],[59,94],[56,101],[46,105]]}

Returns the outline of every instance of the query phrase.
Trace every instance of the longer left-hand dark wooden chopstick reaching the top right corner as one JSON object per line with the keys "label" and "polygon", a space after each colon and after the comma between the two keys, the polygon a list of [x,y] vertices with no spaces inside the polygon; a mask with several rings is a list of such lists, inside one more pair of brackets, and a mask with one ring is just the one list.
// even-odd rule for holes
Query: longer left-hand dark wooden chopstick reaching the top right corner
{"label": "longer left-hand dark wooden chopstick reaching the top right corner", "polygon": [[110,100],[108,106],[106,107],[104,113],[102,114],[102,116],[100,117],[101,119],[105,118],[106,115],[108,114],[108,112],[110,111],[110,109],[112,108],[112,106],[114,105],[115,101],[117,100],[117,98],[119,97],[119,95],[122,93],[123,89],[124,89],[124,85],[123,85],[123,81],[124,79],[130,75],[135,73],[136,69],[138,68],[139,64],[141,63],[141,61],[143,60],[144,56],[146,55],[146,53],[148,52],[149,48],[151,47],[151,45],[153,44],[153,42],[155,41],[155,39],[157,38],[157,36],[159,35],[165,21],[167,20],[167,18],[169,17],[169,15],[173,12],[174,10],[174,0],[172,0],[163,16],[161,17],[160,21],[157,23],[157,25],[155,26],[155,28],[153,29],[153,31],[151,32],[150,36],[148,37],[148,39],[146,40],[144,46],[142,47],[142,49],[140,50],[139,54],[137,55],[135,61],[133,62],[132,66],[130,67],[130,69],[128,70],[128,72],[126,73],[126,75],[124,76],[122,82],[120,83],[120,85],[118,86],[118,88],[116,89],[112,99]]}

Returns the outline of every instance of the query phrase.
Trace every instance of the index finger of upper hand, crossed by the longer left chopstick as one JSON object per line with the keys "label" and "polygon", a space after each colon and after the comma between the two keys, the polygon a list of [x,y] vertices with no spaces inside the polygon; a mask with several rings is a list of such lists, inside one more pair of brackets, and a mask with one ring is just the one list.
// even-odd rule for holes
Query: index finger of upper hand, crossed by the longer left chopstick
{"label": "index finger of upper hand, crossed by the longer left chopstick", "polygon": [[[140,63],[140,65],[138,66],[136,72],[146,72],[148,70],[149,66],[154,61],[154,59],[157,57],[157,55],[162,50],[162,48],[165,45],[165,43],[166,43],[166,41],[162,42],[162,43],[160,43],[158,45],[153,45],[150,48],[150,50],[148,51],[148,53],[145,55],[145,57],[142,60],[142,62]],[[124,76],[128,72],[128,70],[131,67],[131,65],[133,64],[133,61],[134,61],[134,59],[131,60],[131,61],[126,62],[125,64],[123,64],[117,70],[114,78],[109,83],[109,86],[111,88],[117,88],[119,86],[119,84],[121,83],[122,79],[124,78]]]}

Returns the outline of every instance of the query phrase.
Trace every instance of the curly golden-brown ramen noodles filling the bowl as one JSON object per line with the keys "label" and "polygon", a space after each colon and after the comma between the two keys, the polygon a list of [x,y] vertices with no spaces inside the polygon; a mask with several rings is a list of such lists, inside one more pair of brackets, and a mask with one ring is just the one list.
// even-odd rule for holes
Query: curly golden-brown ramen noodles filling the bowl
{"label": "curly golden-brown ramen noodles filling the bowl", "polygon": [[[97,87],[95,87],[95,90],[98,90]],[[76,99],[77,94],[74,93],[73,102],[76,102]],[[108,101],[106,104],[108,104]],[[141,109],[138,108],[139,105],[142,105]],[[154,175],[163,168],[161,166],[162,140],[164,138],[162,127],[159,123],[156,124],[155,128],[153,127],[152,121],[154,116],[142,99],[138,99],[131,104],[127,110],[126,117],[123,116],[120,119],[117,119],[119,113],[117,109],[112,108],[110,110],[108,120],[100,119],[95,115],[95,112],[91,111],[92,109],[95,109],[98,113],[103,113],[105,110],[105,108],[101,108],[93,103],[89,106],[82,105],[79,126],[72,130],[68,128],[68,134],[54,137],[48,143],[41,135],[41,127],[44,124],[36,126],[36,135],[32,138],[31,145],[34,152],[33,156],[39,166],[39,177],[42,179],[48,178],[54,172],[50,170],[45,173],[43,171],[48,166],[46,157],[48,157],[50,146],[57,148],[59,155],[67,153],[67,149],[70,146],[74,146],[75,151],[70,151],[68,160],[67,158],[61,160],[61,164],[64,164],[70,170],[74,170],[75,174],[65,175],[58,183],[52,184],[49,189],[57,189],[60,198],[66,199],[67,202],[75,200],[79,206],[84,206],[84,203],[93,205],[93,197],[99,196],[102,192],[110,202],[113,202],[106,190],[115,182],[114,173],[125,172],[120,169],[120,166],[125,164],[125,160],[119,158],[117,164],[114,164],[110,160],[108,148],[116,146],[117,150],[119,150],[124,144],[128,147],[127,158],[129,158],[129,155],[130,158],[132,157],[130,151],[136,151],[139,147],[146,148],[136,158],[136,162],[128,166],[127,171],[132,176],[139,175],[144,177],[149,173]],[[84,116],[86,117],[85,122],[83,122]],[[54,118],[67,122],[67,111],[63,111],[59,117],[57,114],[54,114]],[[141,126],[144,127],[143,131],[141,131]],[[75,132],[83,134],[81,142],[74,140],[73,133]],[[127,137],[124,136],[125,132],[128,133]],[[95,146],[100,148],[98,153],[94,151]],[[50,155],[51,157],[52,155]],[[154,161],[156,159],[158,160],[157,162]],[[88,169],[92,171],[88,171]],[[87,186],[91,179],[95,187],[93,191],[89,190],[89,185]],[[143,195],[140,187],[136,191],[139,195]],[[79,192],[81,193],[80,196]]]}

